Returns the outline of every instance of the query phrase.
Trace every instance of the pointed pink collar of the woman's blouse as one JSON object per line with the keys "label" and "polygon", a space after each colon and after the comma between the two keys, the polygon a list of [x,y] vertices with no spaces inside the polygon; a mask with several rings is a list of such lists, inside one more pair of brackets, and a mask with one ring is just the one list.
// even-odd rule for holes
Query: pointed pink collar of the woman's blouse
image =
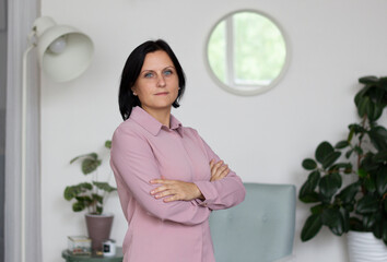
{"label": "pointed pink collar of the woman's blouse", "polygon": [[[153,135],[157,135],[162,128],[168,129],[139,106],[131,110],[130,119],[139,123]],[[173,115],[171,115],[169,121],[171,130],[176,130],[180,135],[183,135],[181,122],[177,120]]]}

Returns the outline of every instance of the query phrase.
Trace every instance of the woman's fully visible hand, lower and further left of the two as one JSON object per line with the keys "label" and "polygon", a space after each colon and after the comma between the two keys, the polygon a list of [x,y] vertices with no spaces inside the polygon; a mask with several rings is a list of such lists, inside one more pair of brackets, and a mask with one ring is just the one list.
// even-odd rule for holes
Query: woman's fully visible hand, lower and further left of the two
{"label": "woman's fully visible hand, lower and further left of the two", "polygon": [[150,181],[152,184],[160,183],[159,188],[151,191],[155,199],[165,198],[164,202],[172,201],[191,201],[195,199],[203,199],[199,188],[192,182],[184,182],[179,180],[168,179],[153,179]]}

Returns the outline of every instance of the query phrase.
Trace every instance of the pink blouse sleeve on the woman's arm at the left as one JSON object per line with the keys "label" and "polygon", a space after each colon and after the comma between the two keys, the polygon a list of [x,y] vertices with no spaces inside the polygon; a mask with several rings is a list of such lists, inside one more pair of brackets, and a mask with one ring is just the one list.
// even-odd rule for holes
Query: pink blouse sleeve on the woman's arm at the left
{"label": "pink blouse sleeve on the woman's arm at the left", "polygon": [[[151,190],[156,188],[150,180],[161,178],[161,174],[145,136],[130,129],[117,129],[113,136],[110,154],[118,189],[128,189],[149,214],[162,221],[185,225],[197,225],[208,219],[211,211],[195,201],[165,203],[150,194]],[[126,209],[126,196],[120,195],[120,201],[122,209]]]}

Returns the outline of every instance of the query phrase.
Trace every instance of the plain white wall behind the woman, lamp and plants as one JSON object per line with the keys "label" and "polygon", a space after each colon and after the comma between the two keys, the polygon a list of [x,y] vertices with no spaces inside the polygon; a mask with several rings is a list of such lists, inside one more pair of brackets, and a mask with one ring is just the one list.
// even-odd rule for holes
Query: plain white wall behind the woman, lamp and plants
{"label": "plain white wall behind the woman, lamp and plants", "polygon": [[[211,26],[238,9],[271,14],[291,44],[291,64],[272,91],[239,97],[218,87],[203,62]],[[294,183],[307,174],[303,158],[322,140],[341,140],[356,120],[353,96],[359,76],[386,74],[387,1],[384,0],[42,0],[43,15],[87,33],[95,44],[89,71],[64,84],[43,76],[42,180],[44,262],[62,261],[67,236],[85,233],[82,214],[62,198],[83,180],[69,160],[103,151],[121,119],[117,106],[120,71],[129,52],[149,38],[166,39],[188,78],[174,114],[195,127],[244,181]],[[108,172],[108,167],[105,167]],[[117,196],[112,237],[122,241],[126,222]],[[297,261],[348,260],[344,237],[324,229],[302,243],[307,206],[297,204]]]}

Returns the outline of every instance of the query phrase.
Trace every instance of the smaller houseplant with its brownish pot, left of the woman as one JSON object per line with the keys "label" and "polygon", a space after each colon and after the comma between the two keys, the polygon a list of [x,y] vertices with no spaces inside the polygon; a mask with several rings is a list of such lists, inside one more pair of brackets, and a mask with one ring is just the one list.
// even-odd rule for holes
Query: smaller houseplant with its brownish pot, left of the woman
{"label": "smaller houseplant with its brownish pot, left of the woman", "polygon": [[[106,141],[105,147],[110,148],[112,142]],[[98,154],[90,153],[74,157],[70,160],[73,164],[81,160],[81,170],[83,175],[92,175],[91,181],[81,182],[74,186],[66,187],[63,196],[72,203],[74,212],[87,210],[85,214],[89,237],[92,239],[93,250],[102,247],[102,241],[109,238],[113,214],[104,214],[104,204],[107,196],[117,189],[108,182],[98,181],[97,168],[102,164]]]}

